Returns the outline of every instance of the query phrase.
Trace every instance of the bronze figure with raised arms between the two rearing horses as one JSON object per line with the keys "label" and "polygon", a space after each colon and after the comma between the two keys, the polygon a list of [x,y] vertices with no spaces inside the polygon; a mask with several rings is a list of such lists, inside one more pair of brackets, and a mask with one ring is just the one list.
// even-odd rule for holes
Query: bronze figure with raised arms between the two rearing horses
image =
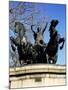
{"label": "bronze figure with raised arms between the two rearing horses", "polygon": [[34,49],[36,52],[36,63],[43,63],[43,53],[44,53],[44,48],[46,48],[46,44],[44,43],[43,40],[43,34],[47,28],[48,23],[46,22],[46,25],[43,29],[41,29],[40,27],[37,27],[37,31],[35,32],[33,30],[34,25],[31,25],[31,30],[33,33],[33,37],[35,40],[35,45],[34,45]]}

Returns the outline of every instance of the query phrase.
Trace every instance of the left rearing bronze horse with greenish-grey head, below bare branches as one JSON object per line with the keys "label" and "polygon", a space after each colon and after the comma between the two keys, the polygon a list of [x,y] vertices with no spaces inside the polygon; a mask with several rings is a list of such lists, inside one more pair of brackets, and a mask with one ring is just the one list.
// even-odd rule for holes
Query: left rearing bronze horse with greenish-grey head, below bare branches
{"label": "left rearing bronze horse with greenish-grey head, below bare branches", "polygon": [[15,22],[15,33],[17,33],[17,37],[15,39],[10,37],[11,47],[14,52],[16,51],[15,47],[17,47],[20,65],[31,64],[35,61],[34,55],[36,55],[32,44],[27,41],[25,30],[26,29],[22,23]]}

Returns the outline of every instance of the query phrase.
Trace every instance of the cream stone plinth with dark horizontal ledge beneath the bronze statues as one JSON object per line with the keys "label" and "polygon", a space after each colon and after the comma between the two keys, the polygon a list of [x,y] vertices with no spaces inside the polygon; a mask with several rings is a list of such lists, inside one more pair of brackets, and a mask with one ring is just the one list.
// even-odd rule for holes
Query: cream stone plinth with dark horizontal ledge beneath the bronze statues
{"label": "cream stone plinth with dark horizontal ledge beneath the bronze statues", "polygon": [[66,84],[66,66],[35,64],[10,68],[10,88],[57,86]]}

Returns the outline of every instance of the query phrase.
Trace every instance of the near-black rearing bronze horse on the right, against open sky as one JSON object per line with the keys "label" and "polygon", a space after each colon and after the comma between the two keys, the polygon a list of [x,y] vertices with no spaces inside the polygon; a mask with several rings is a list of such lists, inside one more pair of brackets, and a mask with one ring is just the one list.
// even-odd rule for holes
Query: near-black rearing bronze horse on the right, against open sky
{"label": "near-black rearing bronze horse on the right, against open sky", "polygon": [[57,62],[57,52],[59,44],[62,43],[62,45],[60,46],[61,50],[64,46],[65,41],[64,38],[59,37],[59,34],[55,29],[58,23],[59,23],[58,20],[52,20],[49,28],[50,40],[47,44],[45,53],[48,55],[48,63],[50,64],[55,64]]}

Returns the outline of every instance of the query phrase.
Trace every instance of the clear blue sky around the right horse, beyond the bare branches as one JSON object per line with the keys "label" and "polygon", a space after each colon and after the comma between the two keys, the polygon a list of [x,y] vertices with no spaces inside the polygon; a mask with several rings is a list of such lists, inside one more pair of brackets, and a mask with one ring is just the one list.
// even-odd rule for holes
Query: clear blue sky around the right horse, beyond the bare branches
{"label": "clear blue sky around the right horse, beyond the bare branches", "polygon": [[[16,6],[18,2],[13,2]],[[23,3],[23,2],[22,2]],[[28,3],[28,2],[27,2]],[[28,3],[29,4],[29,3]],[[61,37],[66,38],[66,5],[64,4],[47,4],[47,3],[34,3],[35,8],[40,11],[40,14],[36,16],[36,20],[41,17],[48,17],[46,21],[48,21],[48,27],[44,33],[44,41],[48,43],[49,40],[49,24],[52,19],[59,20],[59,24],[57,25],[56,29]],[[32,33],[30,32],[32,35]],[[29,34],[29,35],[30,35]],[[32,40],[33,41],[33,40]],[[58,60],[57,64],[65,64],[65,44],[63,49],[60,51],[58,50]]]}

